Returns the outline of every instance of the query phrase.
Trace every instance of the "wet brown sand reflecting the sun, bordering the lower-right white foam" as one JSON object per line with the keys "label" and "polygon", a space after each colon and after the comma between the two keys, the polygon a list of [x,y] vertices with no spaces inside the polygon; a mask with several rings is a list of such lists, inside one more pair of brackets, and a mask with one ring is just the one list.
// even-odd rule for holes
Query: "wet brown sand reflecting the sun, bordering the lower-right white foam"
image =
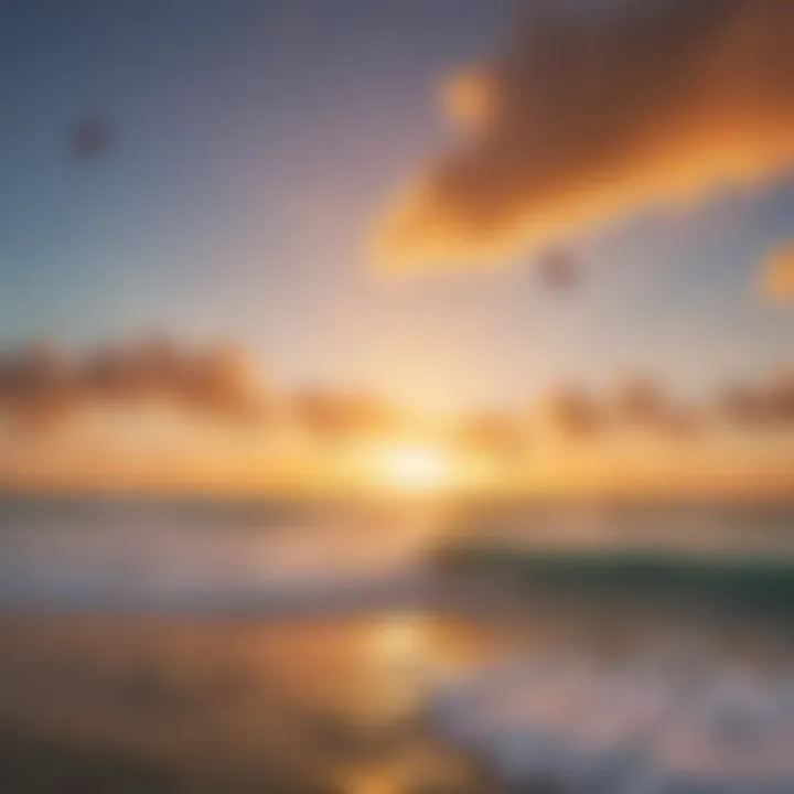
{"label": "wet brown sand reflecting the sun, bordering the lower-right white foam", "polygon": [[7,612],[0,791],[554,791],[497,784],[475,747],[444,739],[427,712],[439,677],[534,654],[770,675],[794,658],[794,627],[780,623],[471,582],[437,594],[414,613],[289,619]]}

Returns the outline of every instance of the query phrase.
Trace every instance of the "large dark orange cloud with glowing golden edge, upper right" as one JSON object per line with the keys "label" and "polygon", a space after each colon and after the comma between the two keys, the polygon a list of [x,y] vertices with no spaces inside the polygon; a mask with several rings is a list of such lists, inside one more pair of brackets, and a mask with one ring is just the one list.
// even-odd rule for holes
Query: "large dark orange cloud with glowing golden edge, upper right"
{"label": "large dark orange cloud with glowing golden edge, upper right", "polygon": [[794,3],[533,0],[443,90],[453,146],[375,230],[393,267],[539,250],[794,161]]}

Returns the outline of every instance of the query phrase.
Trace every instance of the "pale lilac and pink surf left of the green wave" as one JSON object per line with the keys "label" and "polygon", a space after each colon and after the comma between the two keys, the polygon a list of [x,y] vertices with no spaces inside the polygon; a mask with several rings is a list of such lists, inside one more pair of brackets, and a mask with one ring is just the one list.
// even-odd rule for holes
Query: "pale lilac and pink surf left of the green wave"
{"label": "pale lilac and pink surf left of the green wave", "polygon": [[0,509],[0,609],[363,609],[420,598],[395,516],[319,503],[17,501]]}

